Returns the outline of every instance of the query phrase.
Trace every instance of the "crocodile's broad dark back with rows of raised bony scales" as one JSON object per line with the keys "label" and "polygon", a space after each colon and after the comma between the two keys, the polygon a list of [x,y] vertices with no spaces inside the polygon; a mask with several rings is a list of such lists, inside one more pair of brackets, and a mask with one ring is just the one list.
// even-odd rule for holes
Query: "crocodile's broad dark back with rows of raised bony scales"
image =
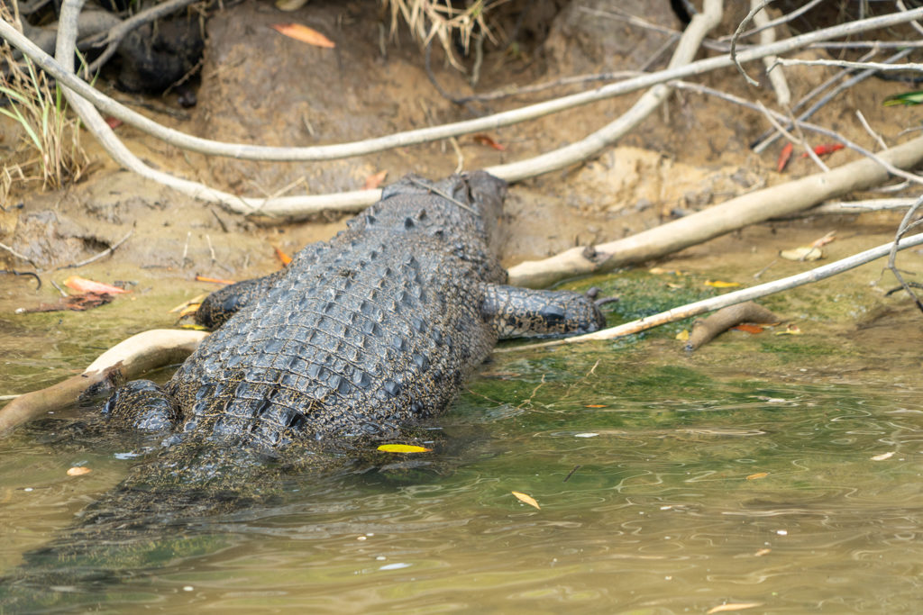
{"label": "crocodile's broad dark back with rows of raised bony scales", "polygon": [[450,178],[435,188],[446,198],[405,180],[299,253],[166,385],[181,437],[276,448],[396,432],[446,408],[497,341],[480,306],[506,273],[496,220],[475,208],[502,202],[494,182],[472,195]]}

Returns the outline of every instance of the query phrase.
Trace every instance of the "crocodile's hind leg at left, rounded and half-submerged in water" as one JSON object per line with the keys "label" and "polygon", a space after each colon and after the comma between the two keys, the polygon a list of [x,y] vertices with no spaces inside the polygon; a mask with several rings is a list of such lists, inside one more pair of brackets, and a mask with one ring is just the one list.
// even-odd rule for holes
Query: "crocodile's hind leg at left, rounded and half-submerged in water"
{"label": "crocodile's hind leg at left, rounded and half-submerged in water", "polygon": [[102,408],[111,422],[145,432],[165,432],[178,419],[172,397],[150,380],[133,380],[115,389]]}

